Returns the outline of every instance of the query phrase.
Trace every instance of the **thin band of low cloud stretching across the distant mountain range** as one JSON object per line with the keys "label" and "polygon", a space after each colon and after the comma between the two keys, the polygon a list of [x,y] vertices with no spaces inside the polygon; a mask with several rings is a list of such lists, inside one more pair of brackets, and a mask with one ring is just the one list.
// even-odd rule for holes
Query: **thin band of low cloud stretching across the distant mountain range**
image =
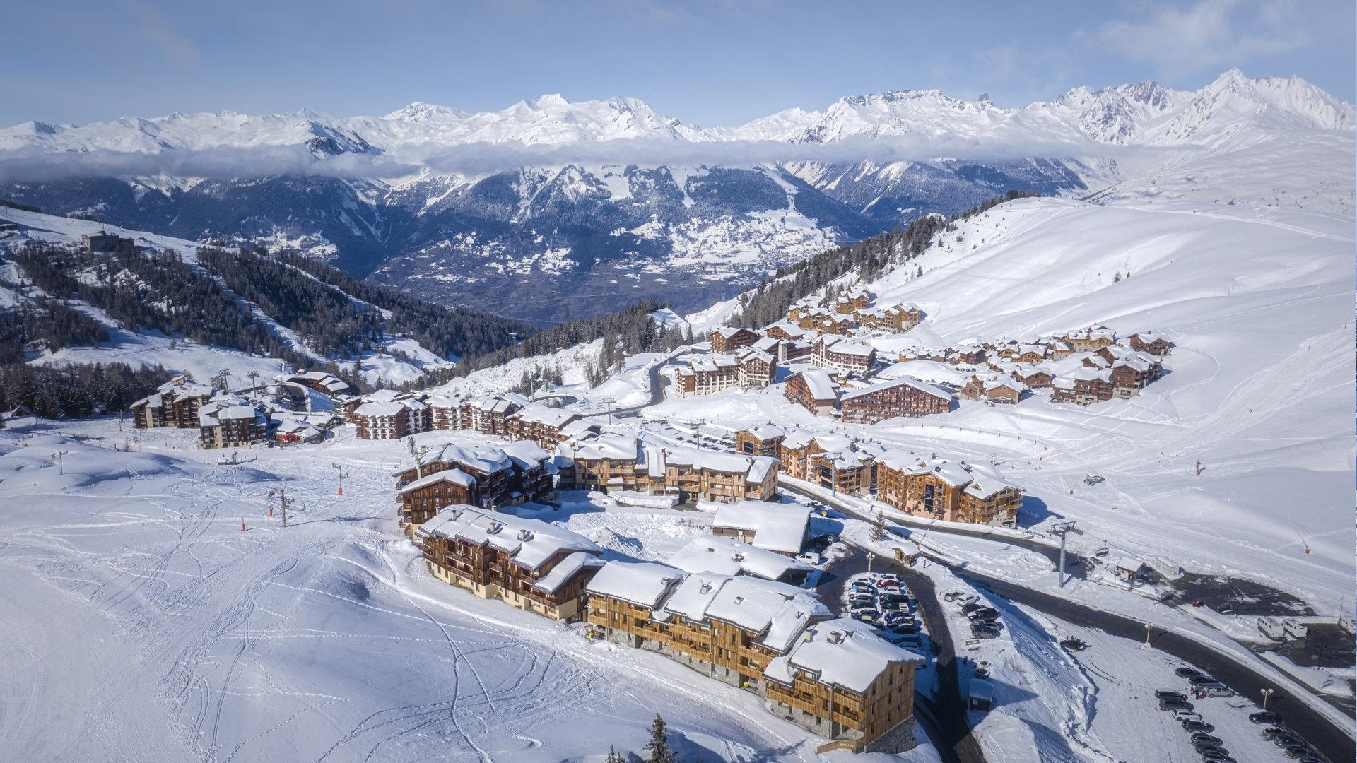
{"label": "thin band of low cloud stretching across the distant mountain range", "polygon": [[[341,178],[406,178],[430,171],[437,175],[489,175],[520,167],[585,166],[748,166],[786,162],[1001,162],[1023,157],[1075,159],[1114,156],[1124,147],[1080,141],[987,138],[928,138],[905,134],[873,140],[849,138],[826,144],[782,141],[611,140],[563,145],[472,143],[438,148],[400,148],[391,152],[315,153],[305,145],[223,147],[160,153],[90,151],[57,152],[37,148],[0,151],[0,182],[43,182],[65,178],[259,178],[320,175]],[[1145,151],[1143,148],[1134,149]]]}

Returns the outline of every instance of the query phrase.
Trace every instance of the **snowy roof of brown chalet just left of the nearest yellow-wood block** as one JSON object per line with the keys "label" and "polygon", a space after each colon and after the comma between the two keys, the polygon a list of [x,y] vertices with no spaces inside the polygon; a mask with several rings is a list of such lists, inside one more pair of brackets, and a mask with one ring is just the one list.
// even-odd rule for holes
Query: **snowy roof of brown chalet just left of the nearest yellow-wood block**
{"label": "snowy roof of brown chalet just left of the nearest yellow-wood block", "polygon": [[603,553],[593,540],[560,525],[467,505],[448,506],[421,524],[417,532],[425,538],[456,538],[494,546],[509,554],[513,563],[529,570],[541,567],[560,551]]}

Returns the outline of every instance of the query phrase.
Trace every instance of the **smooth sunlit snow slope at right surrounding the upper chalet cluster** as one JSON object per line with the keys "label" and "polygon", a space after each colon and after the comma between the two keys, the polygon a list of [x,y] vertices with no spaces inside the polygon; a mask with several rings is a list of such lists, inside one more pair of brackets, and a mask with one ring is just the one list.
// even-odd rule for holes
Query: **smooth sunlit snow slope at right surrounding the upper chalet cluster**
{"label": "smooth sunlit snow slope at right surrounding the upper chalet cluster", "polygon": [[[1076,519],[1088,543],[1251,577],[1337,614],[1354,542],[1350,217],[1042,198],[942,240],[867,284],[879,301],[927,312],[902,338],[868,339],[882,354],[912,338],[938,346],[1101,323],[1168,333],[1167,373],[1137,398],[1087,409],[1045,394],[962,401],[947,415],[841,432],[996,462],[1033,497],[1025,523]],[[836,426],[780,387],[670,399],[647,415]],[[1086,487],[1088,472],[1107,482]]]}

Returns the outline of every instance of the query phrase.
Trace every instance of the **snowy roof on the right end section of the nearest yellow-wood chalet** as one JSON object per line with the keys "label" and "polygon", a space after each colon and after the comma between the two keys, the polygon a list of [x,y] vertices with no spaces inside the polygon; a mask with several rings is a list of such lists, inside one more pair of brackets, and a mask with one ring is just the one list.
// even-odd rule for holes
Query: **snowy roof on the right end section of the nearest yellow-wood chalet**
{"label": "snowy roof on the right end section of the nearest yellow-wood chalet", "polygon": [[[806,633],[807,637],[795,645],[790,656],[778,657],[773,663],[784,660],[786,665],[801,668],[822,683],[855,694],[864,694],[893,663],[925,664],[919,654],[890,644],[877,635],[871,626],[856,620],[813,623]],[[786,665],[779,668],[786,671]],[[776,672],[776,668],[768,665],[768,672]],[[790,680],[783,679],[783,683]]]}

